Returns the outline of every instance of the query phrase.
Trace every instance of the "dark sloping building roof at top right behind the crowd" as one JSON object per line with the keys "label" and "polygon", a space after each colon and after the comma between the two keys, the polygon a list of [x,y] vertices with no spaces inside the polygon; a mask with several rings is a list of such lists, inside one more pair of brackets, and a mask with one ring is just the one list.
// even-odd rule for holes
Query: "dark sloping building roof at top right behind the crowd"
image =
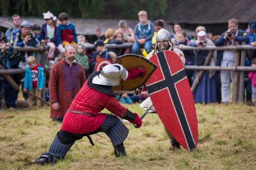
{"label": "dark sloping building roof at top right behind the crowd", "polygon": [[182,0],[169,4],[166,23],[216,24],[236,18],[239,23],[256,20],[255,0]]}

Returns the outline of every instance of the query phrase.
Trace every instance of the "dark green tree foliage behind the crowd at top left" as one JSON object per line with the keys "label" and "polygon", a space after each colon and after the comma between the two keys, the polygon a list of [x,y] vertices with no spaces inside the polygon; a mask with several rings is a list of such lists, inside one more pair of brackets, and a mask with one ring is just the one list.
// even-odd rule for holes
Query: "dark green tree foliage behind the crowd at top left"
{"label": "dark green tree foliage behind the crowd at top left", "polygon": [[140,10],[148,11],[148,17],[163,17],[167,8],[166,0],[0,0],[0,4],[0,15],[4,16],[42,17],[51,11],[57,17],[67,12],[75,18],[109,19],[137,19]]}

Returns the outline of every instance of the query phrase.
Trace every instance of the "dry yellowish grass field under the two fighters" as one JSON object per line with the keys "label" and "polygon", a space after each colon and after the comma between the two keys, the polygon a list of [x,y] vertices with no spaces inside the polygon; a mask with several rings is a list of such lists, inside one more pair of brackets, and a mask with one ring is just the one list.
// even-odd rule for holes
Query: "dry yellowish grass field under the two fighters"
{"label": "dry yellowish grass field under the two fighters", "polygon": [[[138,104],[125,105],[140,113]],[[92,135],[77,141],[64,160],[46,167],[24,167],[48,151],[60,123],[49,119],[49,107],[0,112],[0,169],[29,170],[255,170],[256,109],[246,105],[196,104],[198,148],[170,152],[170,143],[157,114],[148,114],[143,126],[132,124],[125,140],[127,157],[115,158],[106,137]],[[108,113],[107,111],[105,111]],[[142,113],[141,113],[142,114]]]}

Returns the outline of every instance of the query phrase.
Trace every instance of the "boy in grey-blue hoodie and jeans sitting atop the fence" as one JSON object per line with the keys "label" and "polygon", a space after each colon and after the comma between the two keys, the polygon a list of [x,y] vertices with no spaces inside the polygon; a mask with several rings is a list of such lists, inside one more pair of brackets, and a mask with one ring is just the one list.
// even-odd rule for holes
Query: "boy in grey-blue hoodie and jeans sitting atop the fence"
{"label": "boy in grey-blue hoodie and jeans sitting atop the fence", "polygon": [[148,14],[146,11],[140,11],[138,13],[140,22],[134,28],[135,42],[131,47],[133,54],[138,54],[141,47],[145,48],[147,53],[151,52],[151,40],[154,36],[154,25],[148,20]]}

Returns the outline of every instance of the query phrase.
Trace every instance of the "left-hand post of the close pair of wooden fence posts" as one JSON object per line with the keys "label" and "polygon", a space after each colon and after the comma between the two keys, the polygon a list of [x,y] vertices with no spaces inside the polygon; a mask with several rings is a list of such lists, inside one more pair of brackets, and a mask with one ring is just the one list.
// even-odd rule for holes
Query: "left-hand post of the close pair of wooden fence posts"
{"label": "left-hand post of the close pair of wooden fence posts", "polygon": [[[236,46],[239,44],[239,42],[236,41]],[[240,60],[240,50],[236,50],[236,58],[235,58],[235,67],[239,66],[239,60]],[[239,72],[235,71],[234,76],[234,87],[233,87],[233,103],[237,102],[238,99],[238,84],[239,84]]]}

